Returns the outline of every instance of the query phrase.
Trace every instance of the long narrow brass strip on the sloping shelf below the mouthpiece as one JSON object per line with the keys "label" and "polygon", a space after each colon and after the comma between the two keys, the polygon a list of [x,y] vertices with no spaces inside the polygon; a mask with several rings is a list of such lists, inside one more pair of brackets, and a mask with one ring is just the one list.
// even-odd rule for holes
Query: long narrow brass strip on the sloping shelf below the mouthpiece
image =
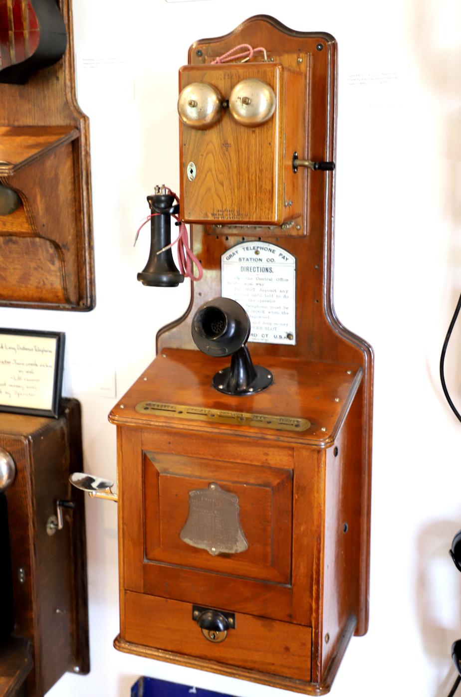
{"label": "long narrow brass strip on the sloping shelf below the mouthpiece", "polygon": [[140,414],[156,414],[197,421],[214,421],[218,424],[235,424],[236,426],[259,426],[265,429],[275,429],[275,431],[307,431],[310,427],[308,419],[298,419],[292,416],[250,414],[245,411],[223,411],[184,404],[165,404],[160,401],[140,401],[135,406],[135,410]]}

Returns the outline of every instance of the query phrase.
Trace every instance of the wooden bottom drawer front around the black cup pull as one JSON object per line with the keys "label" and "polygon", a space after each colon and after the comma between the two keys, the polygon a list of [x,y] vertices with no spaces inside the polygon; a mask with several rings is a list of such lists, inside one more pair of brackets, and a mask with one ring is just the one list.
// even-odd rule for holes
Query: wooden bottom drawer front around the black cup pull
{"label": "wooden bottom drawer front around the black cup pull", "polygon": [[311,679],[310,627],[239,613],[225,641],[212,643],[192,620],[191,604],[133,592],[124,597],[125,641],[295,680]]}

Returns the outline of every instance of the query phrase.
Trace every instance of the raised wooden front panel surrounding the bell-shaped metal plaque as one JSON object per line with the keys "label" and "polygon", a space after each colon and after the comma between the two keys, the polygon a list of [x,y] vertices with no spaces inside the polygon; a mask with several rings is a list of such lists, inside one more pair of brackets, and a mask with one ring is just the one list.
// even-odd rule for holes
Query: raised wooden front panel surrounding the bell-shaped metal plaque
{"label": "raised wooden front panel surrounding the bell-shaped metal plaque", "polygon": [[[213,497],[210,486],[220,496]],[[207,502],[208,492],[216,503]],[[229,494],[236,502],[234,515],[222,504],[231,498]],[[200,502],[195,505],[197,498]],[[188,544],[181,539],[187,537],[181,535],[186,523],[202,538],[209,535],[208,549],[213,549],[213,539],[222,537],[220,528],[226,526],[246,540],[248,549],[213,554]],[[144,453],[146,560],[289,584],[291,534],[292,470]]]}

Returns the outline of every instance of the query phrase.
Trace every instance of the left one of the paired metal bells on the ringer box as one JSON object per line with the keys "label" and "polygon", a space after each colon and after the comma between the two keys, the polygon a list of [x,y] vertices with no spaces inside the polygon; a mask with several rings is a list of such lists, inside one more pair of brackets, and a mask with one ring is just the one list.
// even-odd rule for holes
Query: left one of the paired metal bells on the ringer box
{"label": "left one of the paired metal bells on the ringer box", "polygon": [[191,82],[178,99],[181,121],[192,128],[209,128],[221,115],[222,98],[208,82]]}

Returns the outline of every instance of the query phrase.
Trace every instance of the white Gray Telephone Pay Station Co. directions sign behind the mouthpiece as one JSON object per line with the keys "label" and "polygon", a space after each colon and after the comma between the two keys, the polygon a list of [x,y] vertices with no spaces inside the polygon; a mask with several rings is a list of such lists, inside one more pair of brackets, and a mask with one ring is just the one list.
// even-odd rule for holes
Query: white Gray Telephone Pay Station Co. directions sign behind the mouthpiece
{"label": "white Gray Telephone Pay Station Co. directions sign behind the mouthpiece", "polygon": [[250,342],[296,344],[296,258],[269,242],[242,242],[221,256],[221,295],[250,316]]}

